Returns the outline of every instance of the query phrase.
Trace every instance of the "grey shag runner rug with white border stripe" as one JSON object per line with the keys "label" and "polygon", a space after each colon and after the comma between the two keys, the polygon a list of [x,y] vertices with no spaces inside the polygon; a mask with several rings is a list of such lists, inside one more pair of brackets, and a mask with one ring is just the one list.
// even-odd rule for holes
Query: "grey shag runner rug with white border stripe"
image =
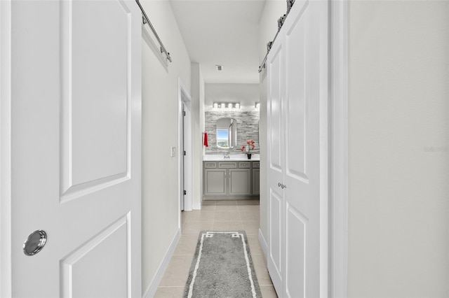
{"label": "grey shag runner rug with white border stripe", "polygon": [[183,297],[262,297],[245,232],[199,233]]}

